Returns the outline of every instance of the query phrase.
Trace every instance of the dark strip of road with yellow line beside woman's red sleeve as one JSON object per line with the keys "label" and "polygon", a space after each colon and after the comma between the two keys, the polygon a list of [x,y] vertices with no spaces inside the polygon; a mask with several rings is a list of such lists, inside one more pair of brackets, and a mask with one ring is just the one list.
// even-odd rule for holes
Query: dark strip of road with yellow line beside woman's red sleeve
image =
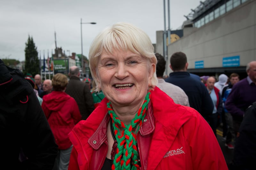
{"label": "dark strip of road with yellow line beside woman's red sleeve", "polygon": [[219,126],[217,128],[217,140],[220,144],[220,148],[222,150],[222,153],[223,153],[226,163],[228,165],[233,159],[234,149],[228,149],[228,147],[225,146],[225,141],[222,141],[222,134],[223,134],[222,127]]}

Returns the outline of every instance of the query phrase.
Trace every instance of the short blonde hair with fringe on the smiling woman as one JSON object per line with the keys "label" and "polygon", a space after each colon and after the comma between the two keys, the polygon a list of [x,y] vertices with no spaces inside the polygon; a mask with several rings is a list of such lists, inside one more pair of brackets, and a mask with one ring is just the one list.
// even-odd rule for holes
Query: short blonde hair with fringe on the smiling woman
{"label": "short blonde hair with fringe on the smiling woman", "polygon": [[[96,83],[95,91],[100,90],[95,73],[97,73],[99,58],[103,50],[110,54],[113,54],[114,50],[130,50],[147,58],[150,63],[157,63],[152,42],[149,36],[140,28],[125,22],[119,22],[107,27],[94,38],[89,50],[89,67],[92,78]],[[150,69],[151,65],[148,64],[148,67]],[[149,84],[149,89],[153,89],[156,86],[156,70]]]}

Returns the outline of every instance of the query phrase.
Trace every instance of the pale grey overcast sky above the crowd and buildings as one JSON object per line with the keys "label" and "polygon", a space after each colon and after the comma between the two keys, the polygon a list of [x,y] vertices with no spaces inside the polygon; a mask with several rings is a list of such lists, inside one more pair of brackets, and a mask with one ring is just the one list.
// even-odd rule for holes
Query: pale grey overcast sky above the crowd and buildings
{"label": "pale grey overcast sky above the crowd and buildings", "polygon": [[[166,0],[166,6],[167,6]],[[179,28],[199,0],[170,0],[171,29]],[[168,16],[166,10],[166,27]],[[81,24],[83,24],[83,54],[88,56],[93,38],[105,27],[116,22],[130,22],[156,43],[156,31],[164,30],[164,0],[1,0],[0,58],[25,60],[25,43],[33,37],[37,51],[51,55],[62,47],[68,55],[81,54]]]}

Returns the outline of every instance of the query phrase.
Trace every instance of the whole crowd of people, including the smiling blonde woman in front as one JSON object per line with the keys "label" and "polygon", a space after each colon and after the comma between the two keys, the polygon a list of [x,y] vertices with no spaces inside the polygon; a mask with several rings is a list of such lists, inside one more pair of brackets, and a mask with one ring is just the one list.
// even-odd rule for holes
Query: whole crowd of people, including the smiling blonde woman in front
{"label": "whole crowd of people, including the smiling blonde woman in front", "polygon": [[[166,62],[172,73],[164,75]],[[1,163],[14,169],[251,169],[256,149],[256,61],[239,74],[188,72],[125,22],[102,30],[77,66],[42,81],[0,60]],[[227,163],[217,140],[234,149]],[[3,140],[4,139],[4,140]],[[8,139],[8,140],[5,140]],[[13,147],[14,146],[14,147]],[[10,165],[9,165],[10,166]]]}

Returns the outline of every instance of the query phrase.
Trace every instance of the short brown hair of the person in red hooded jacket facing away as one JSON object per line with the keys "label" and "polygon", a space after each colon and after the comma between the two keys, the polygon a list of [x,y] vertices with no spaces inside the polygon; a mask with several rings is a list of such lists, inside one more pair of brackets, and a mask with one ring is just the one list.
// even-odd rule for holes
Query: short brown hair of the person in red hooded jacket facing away
{"label": "short brown hair of the person in red hooded jacket facing away", "polygon": [[68,78],[62,73],[57,73],[52,78],[52,87],[54,91],[62,91],[68,85]]}

